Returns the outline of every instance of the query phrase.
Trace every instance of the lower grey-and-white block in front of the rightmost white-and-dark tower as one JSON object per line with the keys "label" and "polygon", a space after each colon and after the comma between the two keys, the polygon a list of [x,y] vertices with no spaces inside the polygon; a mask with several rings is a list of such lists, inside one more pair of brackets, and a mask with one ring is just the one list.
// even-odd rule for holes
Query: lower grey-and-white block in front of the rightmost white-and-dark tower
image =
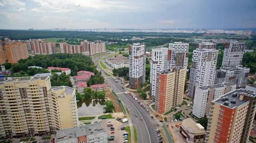
{"label": "lower grey-and-white block in front of the rightmost white-and-dark tower", "polygon": [[247,78],[249,75],[250,69],[238,65],[230,69],[219,69],[215,73],[215,84],[222,82],[229,82],[236,84],[236,88],[244,88],[247,83]]}

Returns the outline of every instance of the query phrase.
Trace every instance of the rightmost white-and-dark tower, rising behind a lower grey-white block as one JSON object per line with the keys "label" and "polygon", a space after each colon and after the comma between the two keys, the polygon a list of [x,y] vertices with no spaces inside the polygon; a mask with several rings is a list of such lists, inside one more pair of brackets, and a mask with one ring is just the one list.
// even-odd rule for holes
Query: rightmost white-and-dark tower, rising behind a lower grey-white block
{"label": "rightmost white-and-dark tower, rising behind a lower grey-white block", "polygon": [[230,69],[242,64],[244,42],[227,42],[225,45],[222,68]]}

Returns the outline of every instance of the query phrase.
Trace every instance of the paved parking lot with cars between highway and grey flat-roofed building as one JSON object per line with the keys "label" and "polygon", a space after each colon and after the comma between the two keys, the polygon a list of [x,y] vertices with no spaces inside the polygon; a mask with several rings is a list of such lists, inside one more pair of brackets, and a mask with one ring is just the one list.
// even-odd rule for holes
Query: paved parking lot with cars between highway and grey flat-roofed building
{"label": "paved parking lot with cars between highway and grey flat-roofed building", "polygon": [[[109,120],[111,121],[111,124],[115,128],[114,131],[110,130],[110,126],[107,126],[107,121]],[[115,137],[115,139],[110,140],[109,143],[122,143],[122,141],[124,140],[122,133],[124,133],[125,130],[121,130],[121,127],[128,126],[128,122],[122,123],[122,122],[116,121],[116,119],[105,119],[105,120],[102,120],[102,126],[105,132],[107,132],[108,138],[110,136]],[[114,133],[111,134],[111,132],[114,132]]]}

